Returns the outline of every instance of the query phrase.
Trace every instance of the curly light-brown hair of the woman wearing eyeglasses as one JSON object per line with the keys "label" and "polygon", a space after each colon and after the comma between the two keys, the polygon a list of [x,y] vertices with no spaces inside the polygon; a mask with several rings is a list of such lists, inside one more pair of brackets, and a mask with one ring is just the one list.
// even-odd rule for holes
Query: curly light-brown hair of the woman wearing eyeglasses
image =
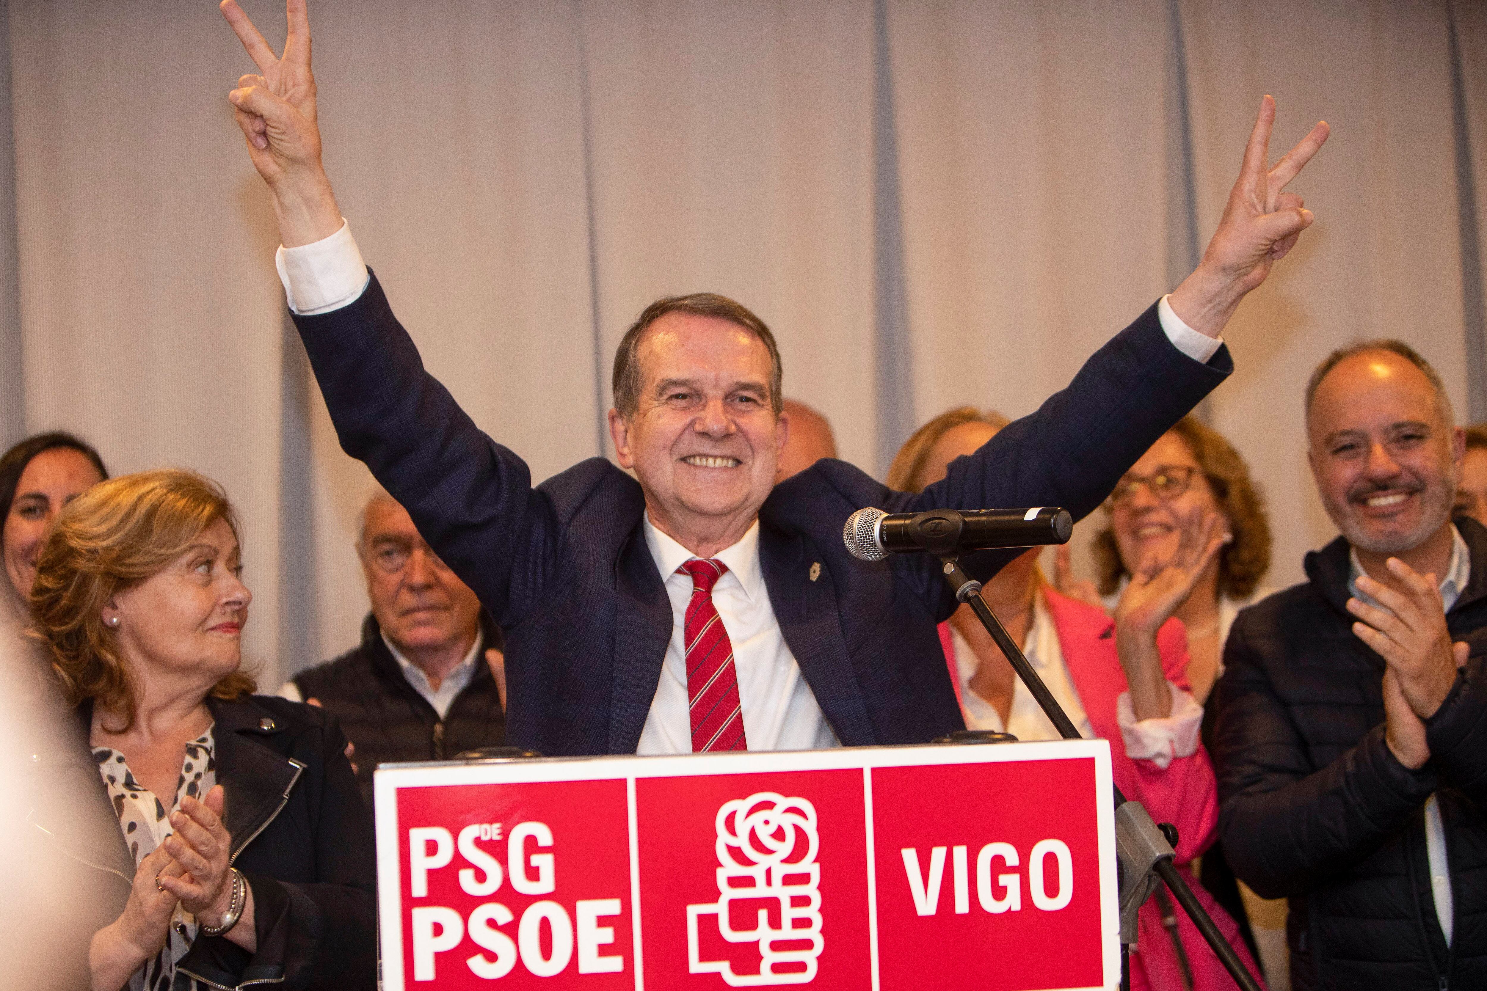
{"label": "curly light-brown hair of the woman wearing eyeglasses", "polygon": [[[1219,593],[1230,599],[1248,599],[1270,571],[1270,517],[1264,496],[1249,477],[1249,465],[1222,434],[1194,416],[1184,416],[1167,432],[1181,437],[1193,452],[1234,535],[1234,541],[1218,553]],[[1094,535],[1090,548],[1099,569],[1100,594],[1108,596],[1127,574],[1115,532],[1106,526]]]}

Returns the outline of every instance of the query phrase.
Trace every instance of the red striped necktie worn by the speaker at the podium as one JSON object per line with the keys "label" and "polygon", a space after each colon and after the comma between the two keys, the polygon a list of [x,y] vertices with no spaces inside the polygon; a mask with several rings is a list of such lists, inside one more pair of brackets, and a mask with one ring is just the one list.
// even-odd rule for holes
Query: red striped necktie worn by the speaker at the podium
{"label": "red striped necktie worn by the speaker at the podium", "polygon": [[693,559],[677,569],[691,575],[691,602],[684,628],[687,698],[691,707],[691,752],[748,750],[733,643],[712,605],[712,587],[729,569],[720,560]]}

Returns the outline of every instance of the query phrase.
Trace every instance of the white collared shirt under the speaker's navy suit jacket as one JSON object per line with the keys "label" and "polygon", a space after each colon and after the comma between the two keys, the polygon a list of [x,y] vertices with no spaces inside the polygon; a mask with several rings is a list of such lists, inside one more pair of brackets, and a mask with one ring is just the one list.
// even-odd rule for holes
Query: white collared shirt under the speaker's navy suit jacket
{"label": "white collared shirt under the speaker's navy suit jacket", "polygon": [[[666,582],[671,599],[671,642],[662,664],[656,698],[651,701],[636,753],[691,753],[691,715],[687,694],[687,603],[691,576],[677,574],[696,554],[644,522],[645,545]],[[769,602],[769,588],[758,562],[758,520],[742,539],[712,556],[729,566],[712,587],[712,605],[733,645],[733,670],[739,680],[744,734],[749,750],[821,750],[840,746],[827,724],[810,685],[800,673],[796,655]]]}

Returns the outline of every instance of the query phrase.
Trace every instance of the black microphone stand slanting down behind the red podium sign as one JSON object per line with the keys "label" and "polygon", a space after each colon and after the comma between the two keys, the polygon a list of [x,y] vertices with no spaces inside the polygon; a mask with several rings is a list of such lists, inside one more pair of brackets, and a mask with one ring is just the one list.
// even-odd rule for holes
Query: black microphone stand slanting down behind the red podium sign
{"label": "black microphone stand slanting down behind the red podium sign", "polygon": [[[959,541],[959,527],[953,527],[955,533],[946,533],[941,539],[925,541],[935,542],[938,547],[926,547],[931,554],[935,554],[944,563],[944,579],[950,584],[955,591],[955,597],[959,602],[971,606],[975,617],[986,627],[986,631],[992,634],[996,640],[996,646],[1001,648],[1002,657],[1005,657],[1013,670],[1017,672],[1017,678],[1022,679],[1032,697],[1038,700],[1038,706],[1053,722],[1054,728],[1059,731],[1065,740],[1080,740],[1080,731],[1074,727],[1068,713],[1048,691],[1048,686],[1042,683],[1038,678],[1038,672],[1033,670],[1032,664],[1028,663],[1028,657],[1017,646],[1017,642],[1007,633],[1001,620],[992,612],[992,608],[986,605],[981,599],[981,582],[975,581],[965,571],[961,569],[961,563],[956,554],[956,544]],[[1197,896],[1193,894],[1193,888],[1182,878],[1182,872],[1178,871],[1173,863],[1176,853],[1173,845],[1178,841],[1178,831],[1167,823],[1160,828],[1151,820],[1151,816],[1142,807],[1141,802],[1129,801],[1115,784],[1111,784],[1115,792],[1115,847],[1117,859],[1120,866],[1120,940],[1121,940],[1121,987],[1130,988],[1130,957],[1129,948],[1136,942],[1136,912],[1146,902],[1146,899],[1155,891],[1158,883],[1167,886],[1172,896],[1182,906],[1182,911],[1188,914],[1193,924],[1207,945],[1213,948],[1213,952],[1224,963],[1224,969],[1228,970],[1230,976],[1234,978],[1243,991],[1261,991],[1259,984],[1255,981],[1254,975],[1245,967],[1239,954],[1234,948],[1228,945],[1224,939],[1224,933],[1218,930],[1213,920],[1204,911],[1203,905],[1199,902]]]}

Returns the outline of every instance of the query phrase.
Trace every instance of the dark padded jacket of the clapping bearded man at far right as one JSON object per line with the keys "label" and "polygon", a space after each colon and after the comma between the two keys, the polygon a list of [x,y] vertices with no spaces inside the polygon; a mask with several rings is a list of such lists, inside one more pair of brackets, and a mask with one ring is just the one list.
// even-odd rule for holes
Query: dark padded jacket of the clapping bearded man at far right
{"label": "dark padded jacket of the clapping bearded man at far right", "polygon": [[[1213,761],[1234,872],[1286,896],[1292,987],[1487,987],[1487,529],[1456,526],[1472,572],[1445,617],[1471,645],[1410,770],[1384,741],[1384,663],[1353,631],[1349,545],[1239,614],[1224,648]],[[1445,828],[1454,921],[1435,915],[1425,801]]]}

